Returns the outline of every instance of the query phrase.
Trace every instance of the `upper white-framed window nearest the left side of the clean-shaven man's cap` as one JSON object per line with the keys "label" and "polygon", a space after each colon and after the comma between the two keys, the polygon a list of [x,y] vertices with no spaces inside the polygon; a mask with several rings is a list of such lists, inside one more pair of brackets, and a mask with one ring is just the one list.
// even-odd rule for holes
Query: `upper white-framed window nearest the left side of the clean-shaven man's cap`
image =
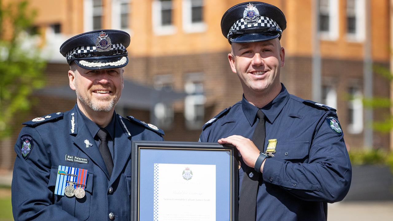
{"label": "upper white-framed window nearest the left side of the clean-shaven man's cap", "polygon": [[185,32],[206,30],[203,21],[203,0],[183,0],[183,29]]}

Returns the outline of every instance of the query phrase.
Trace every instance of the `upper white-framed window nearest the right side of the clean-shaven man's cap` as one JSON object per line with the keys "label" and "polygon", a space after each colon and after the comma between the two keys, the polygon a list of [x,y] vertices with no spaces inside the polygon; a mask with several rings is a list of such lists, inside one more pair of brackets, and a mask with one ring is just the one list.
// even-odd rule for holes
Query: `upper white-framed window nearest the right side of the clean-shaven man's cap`
{"label": "upper white-framed window nearest the right side of the clean-shaven man's cap", "polygon": [[338,38],[338,0],[319,0],[318,27],[322,39]]}

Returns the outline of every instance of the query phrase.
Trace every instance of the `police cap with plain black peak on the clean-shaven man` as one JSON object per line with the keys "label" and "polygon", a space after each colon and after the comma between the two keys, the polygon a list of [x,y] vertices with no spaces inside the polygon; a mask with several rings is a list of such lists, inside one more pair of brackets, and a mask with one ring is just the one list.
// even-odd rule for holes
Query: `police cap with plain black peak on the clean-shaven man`
{"label": "police cap with plain black peak on the clean-shaven man", "polygon": [[286,28],[284,13],[264,2],[244,2],[224,13],[222,34],[235,43],[267,41],[279,38]]}

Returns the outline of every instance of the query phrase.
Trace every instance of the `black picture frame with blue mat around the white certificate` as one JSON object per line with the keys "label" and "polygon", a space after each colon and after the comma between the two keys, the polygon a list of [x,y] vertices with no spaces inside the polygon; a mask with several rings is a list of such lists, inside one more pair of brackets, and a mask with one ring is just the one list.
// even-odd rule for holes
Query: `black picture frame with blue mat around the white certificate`
{"label": "black picture frame with blue mat around the white certificate", "polygon": [[[168,162],[179,165],[184,162],[190,165],[214,164],[216,168],[214,182],[216,190],[219,191],[215,196],[216,220],[237,221],[239,163],[238,151],[233,145],[202,142],[133,141],[131,160],[131,221],[157,220],[154,218],[156,209],[152,203],[155,196],[155,184],[151,183],[152,177],[155,176],[154,165],[167,164]],[[224,177],[224,179],[217,180],[217,177]],[[224,194],[221,191],[224,191]],[[223,202],[228,208],[227,206],[223,207],[219,202]]]}

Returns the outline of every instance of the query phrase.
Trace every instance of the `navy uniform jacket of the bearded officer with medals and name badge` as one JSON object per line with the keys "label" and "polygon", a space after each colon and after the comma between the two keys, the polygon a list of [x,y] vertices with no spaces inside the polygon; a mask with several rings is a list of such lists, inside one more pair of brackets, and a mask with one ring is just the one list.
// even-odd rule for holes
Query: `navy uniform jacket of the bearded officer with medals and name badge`
{"label": "navy uniform jacket of the bearded officer with medals and name badge", "polygon": [[[15,220],[110,220],[110,213],[117,221],[130,220],[131,142],[163,140],[162,130],[114,113],[112,127],[108,129],[112,138],[108,147],[114,163],[109,177],[98,149],[99,141],[92,134],[99,127],[77,105],[68,112],[49,114],[24,124],[26,127],[15,144],[17,158],[12,180]],[[78,162],[67,161],[66,155],[78,157]],[[85,197],[54,194],[60,165],[88,170]]]}

